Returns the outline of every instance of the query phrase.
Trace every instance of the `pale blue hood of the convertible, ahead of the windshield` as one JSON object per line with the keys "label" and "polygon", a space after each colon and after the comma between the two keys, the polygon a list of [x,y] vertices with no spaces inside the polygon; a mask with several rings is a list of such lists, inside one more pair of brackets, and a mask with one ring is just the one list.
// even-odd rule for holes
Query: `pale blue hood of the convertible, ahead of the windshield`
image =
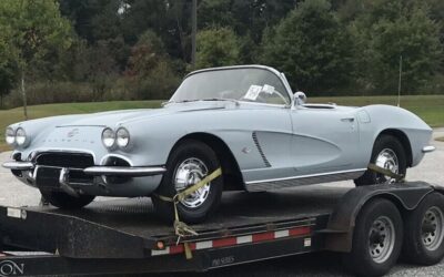
{"label": "pale blue hood of the convertible, ahead of the windshield", "polygon": [[132,121],[147,120],[155,116],[164,116],[174,113],[199,112],[208,110],[225,109],[226,103],[204,102],[204,103],[180,103],[168,104],[161,109],[138,109],[112,112],[101,112],[71,119],[69,122],[59,126],[112,126],[121,125]]}

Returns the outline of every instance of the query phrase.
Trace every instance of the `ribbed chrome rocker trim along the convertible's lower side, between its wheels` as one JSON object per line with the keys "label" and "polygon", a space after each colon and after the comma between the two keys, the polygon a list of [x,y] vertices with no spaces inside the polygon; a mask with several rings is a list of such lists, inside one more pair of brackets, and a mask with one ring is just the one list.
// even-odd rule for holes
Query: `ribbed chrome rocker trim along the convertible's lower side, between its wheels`
{"label": "ribbed chrome rocker trim along the convertible's lower side, between its wheels", "polygon": [[290,178],[278,178],[271,181],[248,182],[245,184],[249,192],[263,192],[271,189],[279,189],[285,187],[294,187],[300,185],[312,185],[321,183],[330,183],[336,181],[353,179],[361,176],[366,168],[354,171],[342,171],[335,173],[311,174]]}

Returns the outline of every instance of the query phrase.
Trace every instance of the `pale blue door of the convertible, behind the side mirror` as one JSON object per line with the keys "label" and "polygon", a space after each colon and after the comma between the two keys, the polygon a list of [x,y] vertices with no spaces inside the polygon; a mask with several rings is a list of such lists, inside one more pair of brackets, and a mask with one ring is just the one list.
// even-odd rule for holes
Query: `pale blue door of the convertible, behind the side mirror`
{"label": "pale blue door of the convertible, behind the side mirror", "polygon": [[353,109],[334,105],[291,111],[291,161],[296,176],[355,168],[359,126]]}

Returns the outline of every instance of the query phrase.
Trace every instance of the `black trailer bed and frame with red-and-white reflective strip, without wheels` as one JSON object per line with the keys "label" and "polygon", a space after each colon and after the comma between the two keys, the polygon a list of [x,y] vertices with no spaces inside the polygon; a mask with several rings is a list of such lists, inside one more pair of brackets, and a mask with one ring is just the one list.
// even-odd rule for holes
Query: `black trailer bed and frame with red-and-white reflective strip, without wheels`
{"label": "black trailer bed and frame with red-and-white reflective strip, without wheels", "polygon": [[[79,211],[0,206],[1,250],[7,253],[0,274],[3,266],[18,276],[202,271],[325,249],[350,252],[355,217],[370,198],[393,198],[410,211],[434,191],[411,182],[225,193],[220,212],[193,225],[198,235],[179,244],[149,198],[97,201]],[[184,243],[192,259],[185,258]],[[13,250],[28,254],[8,254]]]}

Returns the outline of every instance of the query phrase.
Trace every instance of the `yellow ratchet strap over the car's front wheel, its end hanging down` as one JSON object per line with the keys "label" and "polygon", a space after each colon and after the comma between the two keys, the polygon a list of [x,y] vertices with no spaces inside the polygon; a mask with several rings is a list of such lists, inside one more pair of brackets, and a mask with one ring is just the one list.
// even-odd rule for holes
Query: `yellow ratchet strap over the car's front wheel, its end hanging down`
{"label": "yellow ratchet strap over the car's front wheel, its end hanging down", "polygon": [[[211,181],[215,179],[216,177],[219,177],[221,175],[222,175],[222,168],[219,167],[218,170],[212,172],[210,175],[206,175],[200,182],[198,182],[194,185],[188,187],[186,189],[175,194],[173,197],[168,197],[168,196],[163,196],[163,195],[155,195],[161,201],[173,203],[173,206],[174,206],[174,233],[178,236],[178,243],[176,244],[179,244],[179,242],[180,242],[180,239],[182,237],[185,237],[185,236],[189,236],[189,235],[198,235],[198,233],[193,228],[191,228],[185,223],[180,220],[179,212],[178,212],[178,203],[183,201],[186,196],[189,196],[190,194],[194,193],[199,188],[202,188],[208,183],[210,183]],[[183,244],[183,248],[184,248],[184,252],[185,252],[186,259],[191,259],[193,256],[192,256],[192,253],[191,253],[190,245],[188,243],[184,243]]]}

